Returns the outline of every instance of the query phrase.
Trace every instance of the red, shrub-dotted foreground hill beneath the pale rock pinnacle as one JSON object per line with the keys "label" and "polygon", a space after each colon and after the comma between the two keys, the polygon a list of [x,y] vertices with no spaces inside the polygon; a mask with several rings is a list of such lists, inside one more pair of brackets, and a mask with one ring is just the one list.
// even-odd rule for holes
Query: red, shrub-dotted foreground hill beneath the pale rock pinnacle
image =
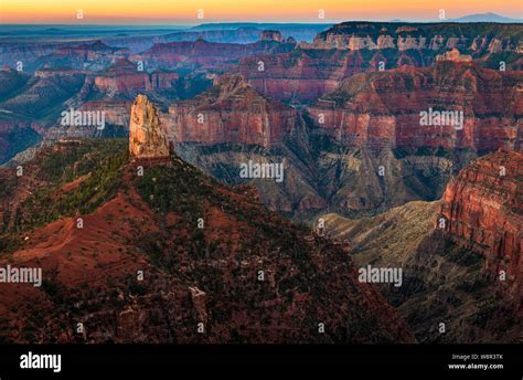
{"label": "red, shrub-dotted foreground hill beneath the pale rock pinnacle", "polygon": [[178,157],[129,161],[126,142],[64,140],[0,172],[0,261],[43,271],[41,288],[2,284],[3,341],[412,341],[339,247]]}

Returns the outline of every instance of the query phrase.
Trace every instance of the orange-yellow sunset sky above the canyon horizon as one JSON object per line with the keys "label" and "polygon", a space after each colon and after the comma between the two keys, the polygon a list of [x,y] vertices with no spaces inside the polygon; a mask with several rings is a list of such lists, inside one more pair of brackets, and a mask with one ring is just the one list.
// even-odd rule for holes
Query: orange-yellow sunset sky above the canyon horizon
{"label": "orange-yellow sunset sky above the canyon horizon", "polygon": [[[522,18],[523,0],[0,0],[1,23],[435,21],[494,12]],[[320,18],[323,10],[324,18]],[[82,18],[77,15],[82,13]],[[199,17],[200,15],[200,17]]]}

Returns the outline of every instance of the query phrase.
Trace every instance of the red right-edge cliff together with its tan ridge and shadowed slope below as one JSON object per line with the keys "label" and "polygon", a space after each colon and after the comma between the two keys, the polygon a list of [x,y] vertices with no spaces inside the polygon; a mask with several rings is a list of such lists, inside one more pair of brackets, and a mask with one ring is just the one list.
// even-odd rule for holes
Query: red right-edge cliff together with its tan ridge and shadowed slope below
{"label": "red right-edge cliff together with its tan ridge and shadowed slope below", "polygon": [[[327,214],[325,233],[350,245],[359,267],[403,270],[399,287],[381,289],[419,341],[517,342],[520,160],[503,151],[478,159],[452,179],[441,202],[410,202],[360,220]],[[505,178],[497,177],[502,163],[512,169]]]}

